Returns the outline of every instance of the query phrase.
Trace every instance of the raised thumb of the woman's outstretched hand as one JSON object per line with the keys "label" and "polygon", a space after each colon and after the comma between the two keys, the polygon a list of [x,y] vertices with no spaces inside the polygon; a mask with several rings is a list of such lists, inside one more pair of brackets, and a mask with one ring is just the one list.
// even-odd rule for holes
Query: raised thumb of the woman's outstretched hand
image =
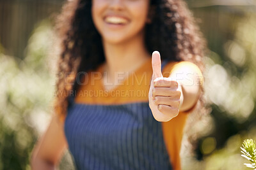
{"label": "raised thumb of the woman's outstretched hand", "polygon": [[160,53],[157,51],[154,51],[152,53],[152,69],[153,69],[153,79],[156,79],[157,77],[163,77],[163,74],[161,72]]}

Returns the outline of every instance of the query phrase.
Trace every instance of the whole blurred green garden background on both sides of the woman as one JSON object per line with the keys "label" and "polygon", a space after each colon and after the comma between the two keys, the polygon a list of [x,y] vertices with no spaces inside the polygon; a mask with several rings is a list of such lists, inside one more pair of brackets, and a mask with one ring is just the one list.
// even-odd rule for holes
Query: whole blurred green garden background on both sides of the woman
{"label": "whole blurred green garden background on both sides of the woman", "polygon": [[[58,46],[53,24],[63,0],[0,1],[0,169],[30,169],[52,115]],[[256,139],[256,1],[188,0],[208,41],[205,99],[211,114],[187,127],[182,169],[248,169],[240,146]],[[191,152],[195,150],[195,152]],[[65,153],[60,169],[74,169]]]}

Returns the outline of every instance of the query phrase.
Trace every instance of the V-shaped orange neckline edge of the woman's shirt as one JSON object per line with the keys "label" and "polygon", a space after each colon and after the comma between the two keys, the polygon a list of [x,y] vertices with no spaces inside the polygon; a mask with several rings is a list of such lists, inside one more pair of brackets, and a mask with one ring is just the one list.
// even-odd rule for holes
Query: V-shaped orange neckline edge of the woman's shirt
{"label": "V-shaped orange neckline edge of the woman's shirt", "polygon": [[125,76],[124,80],[121,81],[120,83],[118,83],[118,85],[115,85],[115,87],[113,87],[110,90],[107,90],[105,85],[104,85],[104,70],[103,70],[104,69],[104,64],[101,64],[99,66],[99,72],[102,75],[102,78],[100,78],[100,80],[99,80],[100,90],[103,90],[104,92],[106,92],[108,94],[110,94],[111,92],[115,92],[116,90],[120,89],[120,87],[122,85],[125,85],[125,82],[127,80],[129,80],[129,78],[131,78],[132,74],[136,74],[136,73],[140,72],[141,70],[145,69],[145,67],[147,67],[149,65],[149,63],[151,63],[151,58],[150,57],[148,57],[148,59],[143,64],[141,64],[140,67],[136,68],[134,71],[129,71],[129,74],[127,76]]}

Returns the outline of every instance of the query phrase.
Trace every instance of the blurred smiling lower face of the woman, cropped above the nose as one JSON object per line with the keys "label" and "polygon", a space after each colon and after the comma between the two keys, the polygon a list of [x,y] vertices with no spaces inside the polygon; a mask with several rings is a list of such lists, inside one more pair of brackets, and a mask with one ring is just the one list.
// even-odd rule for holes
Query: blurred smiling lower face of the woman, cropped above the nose
{"label": "blurred smiling lower face of the woman, cropped above the nose", "polygon": [[147,21],[149,1],[92,0],[93,22],[103,40],[122,43],[141,36]]}

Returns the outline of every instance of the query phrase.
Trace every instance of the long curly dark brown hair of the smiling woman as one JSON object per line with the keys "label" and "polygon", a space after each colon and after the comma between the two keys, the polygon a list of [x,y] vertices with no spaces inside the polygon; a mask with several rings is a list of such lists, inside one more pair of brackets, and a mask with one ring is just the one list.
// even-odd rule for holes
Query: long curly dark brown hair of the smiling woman
{"label": "long curly dark brown hair of the smiling woman", "polygon": [[[183,0],[151,0],[150,5],[151,22],[145,25],[148,52],[159,51],[162,60],[193,62],[203,71],[206,41],[187,4]],[[56,24],[61,38],[61,55],[54,109],[62,120],[70,104],[68,97],[78,88],[76,73],[96,69],[105,61],[91,7],[91,0],[67,1]],[[201,95],[196,105],[203,103]]]}

